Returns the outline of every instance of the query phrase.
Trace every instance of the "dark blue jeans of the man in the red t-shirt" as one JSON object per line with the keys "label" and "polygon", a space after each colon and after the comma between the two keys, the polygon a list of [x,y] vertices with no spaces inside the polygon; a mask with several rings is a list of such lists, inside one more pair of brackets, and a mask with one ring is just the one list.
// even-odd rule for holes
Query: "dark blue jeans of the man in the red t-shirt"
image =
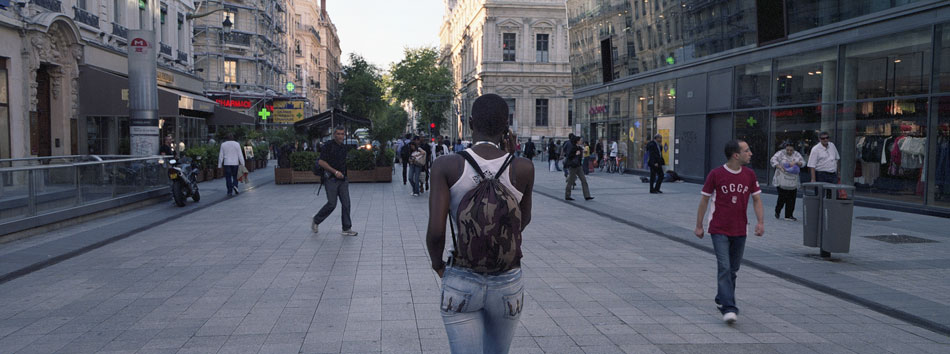
{"label": "dark blue jeans of the man in the red t-shirt", "polygon": [[736,273],[742,263],[746,236],[726,236],[713,234],[713,248],[716,250],[717,291],[716,304],[719,311],[739,313],[736,307]]}

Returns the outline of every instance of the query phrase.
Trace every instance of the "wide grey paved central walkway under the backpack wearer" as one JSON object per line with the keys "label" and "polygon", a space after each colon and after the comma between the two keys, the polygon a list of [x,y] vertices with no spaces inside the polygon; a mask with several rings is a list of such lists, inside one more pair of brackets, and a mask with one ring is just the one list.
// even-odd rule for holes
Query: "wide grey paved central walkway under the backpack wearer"
{"label": "wide grey paved central walkway under the backpack wearer", "polygon": [[[0,284],[0,353],[447,353],[427,198],[352,184],[360,235],[344,237],[339,210],[310,232],[315,191],[261,186]],[[950,351],[947,336],[749,267],[739,322],[724,325],[712,254],[541,194],[524,254],[512,353]]]}

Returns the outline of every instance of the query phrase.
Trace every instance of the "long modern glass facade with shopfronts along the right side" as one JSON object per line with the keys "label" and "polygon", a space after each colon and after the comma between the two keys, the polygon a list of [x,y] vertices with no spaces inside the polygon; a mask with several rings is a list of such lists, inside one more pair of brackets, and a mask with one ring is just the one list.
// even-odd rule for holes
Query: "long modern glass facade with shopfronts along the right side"
{"label": "long modern glass facade with shopfronts along the right side", "polygon": [[[792,13],[799,15],[788,23],[787,30],[789,33],[805,31],[914,2],[925,1],[789,0],[785,2],[789,17]],[[585,42],[583,37],[575,37],[575,28],[571,28],[575,88],[598,86],[604,78],[616,79],[625,72],[644,73],[661,67],[664,60],[657,60],[664,59],[658,54],[661,52],[669,52],[667,55],[673,60],[667,64],[676,65],[717,50],[722,52],[750,44],[740,40],[699,54],[698,47],[690,42],[696,35],[689,31],[692,21],[697,20],[687,16],[692,13],[687,10],[691,9],[690,5],[712,6],[710,3],[732,4],[730,9],[736,13],[742,13],[743,9],[754,10],[754,4],[753,10],[749,10],[742,6],[743,1],[568,1],[569,20],[579,24],[580,33],[597,29],[590,32],[589,41]],[[671,4],[679,5],[679,9],[674,10]],[[807,10],[811,11],[810,15],[792,11],[806,9],[810,9]],[[594,15],[608,10],[614,11],[616,19]],[[616,11],[620,11],[620,15]],[[834,14],[829,15],[827,11]],[[674,13],[682,21],[670,21],[671,31],[666,30],[665,22],[657,25],[660,14],[666,20],[667,14],[672,18]],[[631,29],[618,31],[621,24],[626,26],[624,19],[628,14],[633,18]],[[749,16],[754,18],[754,14]],[[676,25],[681,26],[679,37]],[[604,30],[601,31],[601,27]],[[638,32],[641,38],[637,37]],[[611,49],[610,56],[601,55],[602,48],[608,48],[601,46],[608,37],[610,43],[603,44],[614,47],[629,40],[636,50]],[[746,140],[753,151],[749,167],[763,185],[771,185],[775,170],[769,166],[769,159],[783,144],[792,144],[807,160],[811,149],[818,144],[819,133],[828,132],[842,157],[841,183],[854,185],[858,196],[950,207],[950,23],[921,24],[919,28],[896,33],[851,38],[859,39],[827,42],[824,48],[809,46],[817,41],[802,41],[789,44],[803,48],[785,51],[792,54],[764,60],[763,56],[752,56],[754,60],[746,62],[740,57],[728,69],[716,66],[708,71],[708,90],[731,91],[734,108],[717,104],[718,108],[707,108],[705,112],[696,112],[695,108],[689,111],[691,119],[697,114],[707,117],[709,137],[701,144],[706,144],[703,147],[711,151],[709,154],[721,150],[720,146],[710,145],[718,141],[712,137],[714,130],[731,132],[727,138]],[[640,40],[646,51],[640,51]],[[751,47],[747,49],[756,51]],[[608,57],[612,69],[602,72],[599,65]],[[636,64],[630,60],[633,57],[637,59]],[[575,62],[576,58],[580,60]],[[647,64],[643,65],[643,61]],[[718,75],[718,81],[710,79],[713,77],[710,73],[726,70],[732,74]],[[690,71],[683,77],[695,77],[695,72]],[[657,118],[685,116],[686,113],[677,112],[677,98],[687,92],[692,95],[695,90],[694,84],[683,80],[680,80],[683,87],[678,88],[677,79],[669,77],[653,82],[638,79],[646,83],[637,82],[633,87],[593,96],[584,97],[583,93],[575,96],[580,133],[592,140],[622,140],[629,157],[628,168],[645,170],[644,147],[657,132]],[[723,77],[731,80],[722,82]],[[723,120],[723,117],[728,119]],[[662,119],[663,124],[667,124],[669,118]],[[724,121],[725,125],[714,129],[713,120],[717,124]],[[678,146],[671,146],[673,148]],[[706,171],[716,167],[710,164],[710,159],[706,157]],[[803,182],[810,181],[807,169],[801,178]]]}

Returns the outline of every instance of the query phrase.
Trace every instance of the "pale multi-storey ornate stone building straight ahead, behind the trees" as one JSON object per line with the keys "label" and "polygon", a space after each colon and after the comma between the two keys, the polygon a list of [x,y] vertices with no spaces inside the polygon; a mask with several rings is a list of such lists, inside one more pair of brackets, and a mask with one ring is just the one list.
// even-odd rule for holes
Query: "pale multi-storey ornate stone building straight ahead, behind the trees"
{"label": "pale multi-storey ornate stone building straight ahead, behind the trees", "polygon": [[468,138],[466,118],[479,95],[509,104],[521,140],[573,131],[571,68],[564,1],[444,0],[439,33],[442,65],[458,94],[443,134]]}

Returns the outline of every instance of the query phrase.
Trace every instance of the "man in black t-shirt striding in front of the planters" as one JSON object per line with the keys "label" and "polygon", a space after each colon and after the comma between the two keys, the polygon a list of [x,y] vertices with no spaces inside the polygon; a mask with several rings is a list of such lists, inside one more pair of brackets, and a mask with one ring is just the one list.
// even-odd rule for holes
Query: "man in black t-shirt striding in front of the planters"
{"label": "man in black t-shirt striding in front of the planters", "polygon": [[347,148],[343,145],[345,137],[346,130],[343,127],[336,127],[333,129],[333,140],[320,147],[320,160],[317,163],[329,173],[330,177],[323,182],[327,188],[327,203],[313,216],[313,223],[310,225],[313,233],[319,232],[320,223],[330,216],[333,209],[336,209],[336,201],[339,199],[343,208],[340,213],[343,221],[342,234],[343,236],[357,235],[356,231],[351,230],[353,222],[350,220],[350,183],[346,179]]}

